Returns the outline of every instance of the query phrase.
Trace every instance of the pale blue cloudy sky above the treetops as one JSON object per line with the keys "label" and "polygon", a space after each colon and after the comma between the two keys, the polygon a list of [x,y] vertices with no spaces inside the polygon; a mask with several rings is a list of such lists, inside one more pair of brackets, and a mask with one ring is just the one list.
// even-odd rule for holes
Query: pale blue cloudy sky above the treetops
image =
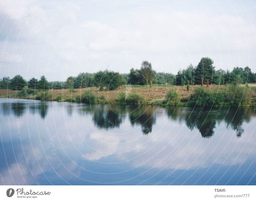
{"label": "pale blue cloudy sky above the treetops", "polygon": [[256,2],[0,0],[0,78],[65,81],[80,72],[129,73],[147,60],[176,74],[210,57],[256,72]]}

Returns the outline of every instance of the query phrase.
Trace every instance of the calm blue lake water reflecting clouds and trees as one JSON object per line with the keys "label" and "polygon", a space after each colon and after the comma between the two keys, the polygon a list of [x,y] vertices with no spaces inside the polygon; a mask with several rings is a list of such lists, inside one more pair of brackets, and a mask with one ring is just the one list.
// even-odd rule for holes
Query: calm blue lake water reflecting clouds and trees
{"label": "calm blue lake water reflecting clouds and trees", "polygon": [[0,99],[0,184],[256,185],[255,108]]}

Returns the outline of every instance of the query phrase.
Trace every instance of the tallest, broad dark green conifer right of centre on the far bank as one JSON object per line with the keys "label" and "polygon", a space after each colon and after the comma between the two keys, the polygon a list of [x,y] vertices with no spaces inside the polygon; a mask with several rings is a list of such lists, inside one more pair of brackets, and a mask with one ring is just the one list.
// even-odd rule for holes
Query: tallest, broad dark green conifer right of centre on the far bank
{"label": "tallest, broad dark green conifer right of centre on the far bank", "polygon": [[213,61],[208,57],[203,57],[201,61],[198,63],[195,69],[195,83],[200,84],[201,77],[204,80],[209,79],[210,83],[214,83],[216,79],[215,75],[215,67],[212,66]]}

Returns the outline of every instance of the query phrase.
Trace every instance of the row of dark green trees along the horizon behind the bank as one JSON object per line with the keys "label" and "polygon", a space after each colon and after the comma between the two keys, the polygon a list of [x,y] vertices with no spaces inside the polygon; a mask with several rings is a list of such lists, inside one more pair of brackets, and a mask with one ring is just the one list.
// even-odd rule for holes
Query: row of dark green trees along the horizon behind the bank
{"label": "row of dark green trees along the horizon behind the bank", "polygon": [[142,61],[139,69],[131,68],[130,73],[98,71],[96,73],[79,73],[77,76],[69,76],[65,82],[48,82],[46,77],[40,80],[31,78],[26,81],[21,75],[15,75],[12,79],[3,77],[0,79],[0,89],[22,90],[25,86],[36,90],[48,89],[79,89],[96,87],[99,90],[115,90],[121,85],[150,85],[152,84],[229,84],[229,83],[255,83],[256,74],[249,67],[236,67],[232,71],[215,70],[212,59],[203,57],[197,66],[190,64],[186,69],[180,69],[176,75],[172,73],[156,72],[148,61]]}

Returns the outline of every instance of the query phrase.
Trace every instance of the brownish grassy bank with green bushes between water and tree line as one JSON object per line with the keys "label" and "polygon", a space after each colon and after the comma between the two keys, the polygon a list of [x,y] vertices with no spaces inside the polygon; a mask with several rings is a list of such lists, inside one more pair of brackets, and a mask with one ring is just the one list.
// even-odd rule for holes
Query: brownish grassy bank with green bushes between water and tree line
{"label": "brownish grassy bank with green bushes between water and tree line", "polygon": [[[59,102],[93,102],[118,104],[161,104],[189,106],[250,105],[256,106],[256,84],[246,85],[123,85],[117,90],[99,91],[95,87],[75,90],[23,91],[0,90],[1,98],[27,98]],[[169,93],[169,95],[168,95]],[[26,95],[27,94],[27,95]],[[175,96],[173,96],[175,95]],[[205,102],[206,100],[206,102]]]}

